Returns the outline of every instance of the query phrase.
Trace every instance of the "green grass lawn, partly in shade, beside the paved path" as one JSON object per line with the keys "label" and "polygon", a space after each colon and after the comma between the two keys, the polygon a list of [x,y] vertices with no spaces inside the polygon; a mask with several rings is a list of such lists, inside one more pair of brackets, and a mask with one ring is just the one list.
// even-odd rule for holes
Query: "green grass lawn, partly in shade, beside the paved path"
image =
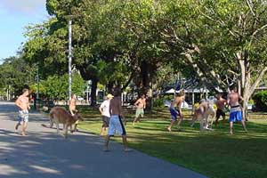
{"label": "green grass lawn, partly in shade, beside the paved path", "polygon": [[[93,134],[101,129],[97,109],[81,109],[85,122],[80,128]],[[133,110],[126,111],[129,146],[150,156],[162,158],[179,166],[214,178],[263,178],[267,176],[267,114],[252,113],[247,122],[248,133],[242,125],[234,125],[234,135],[228,134],[229,124],[220,122],[214,131],[199,132],[199,125],[190,127],[190,112],[182,123],[182,132],[169,125],[167,109],[147,113],[142,122],[133,126]],[[119,136],[116,142],[121,142]],[[111,149],[112,149],[112,145]]]}

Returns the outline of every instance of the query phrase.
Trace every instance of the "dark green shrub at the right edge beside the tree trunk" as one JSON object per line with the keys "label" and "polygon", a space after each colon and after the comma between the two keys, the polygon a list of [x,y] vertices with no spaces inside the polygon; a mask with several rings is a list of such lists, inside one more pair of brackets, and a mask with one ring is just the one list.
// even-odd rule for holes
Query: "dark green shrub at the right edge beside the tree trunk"
{"label": "dark green shrub at the right edge beside the tree trunk", "polygon": [[255,93],[253,100],[257,110],[267,111],[267,91]]}

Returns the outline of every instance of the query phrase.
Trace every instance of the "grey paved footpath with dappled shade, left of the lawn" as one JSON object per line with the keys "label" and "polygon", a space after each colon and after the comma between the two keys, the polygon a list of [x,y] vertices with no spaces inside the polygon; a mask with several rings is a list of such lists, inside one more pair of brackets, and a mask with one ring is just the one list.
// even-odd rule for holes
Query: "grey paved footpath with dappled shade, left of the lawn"
{"label": "grey paved footpath with dappled shade, left of the lawn", "polygon": [[68,139],[45,128],[47,117],[30,113],[28,136],[14,133],[17,121],[12,102],[0,102],[1,178],[206,178],[181,166],[152,158],[137,150],[124,152],[110,142],[102,151],[103,140],[78,132]]}

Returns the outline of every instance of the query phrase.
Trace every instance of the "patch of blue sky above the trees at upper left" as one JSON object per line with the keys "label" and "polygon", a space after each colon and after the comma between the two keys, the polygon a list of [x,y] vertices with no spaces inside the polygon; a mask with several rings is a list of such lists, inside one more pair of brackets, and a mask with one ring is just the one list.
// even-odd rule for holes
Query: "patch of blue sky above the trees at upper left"
{"label": "patch of blue sky above the trees at upper left", "polygon": [[0,63],[16,55],[25,27],[48,19],[45,0],[0,0]]}

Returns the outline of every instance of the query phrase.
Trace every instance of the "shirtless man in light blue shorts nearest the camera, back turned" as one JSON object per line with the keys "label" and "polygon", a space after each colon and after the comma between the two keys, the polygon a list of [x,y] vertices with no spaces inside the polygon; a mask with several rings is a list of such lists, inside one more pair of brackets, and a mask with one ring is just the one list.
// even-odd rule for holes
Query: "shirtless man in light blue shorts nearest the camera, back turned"
{"label": "shirtless man in light blue shorts nearest the camera, back turned", "polygon": [[125,151],[129,151],[126,141],[126,131],[125,125],[122,122],[123,117],[123,109],[121,104],[120,98],[120,89],[116,88],[114,92],[114,98],[109,102],[109,112],[110,112],[110,119],[109,119],[109,131],[106,137],[104,151],[109,151],[109,139],[110,136],[114,136],[114,134],[119,134],[122,136],[122,141],[124,143]]}

